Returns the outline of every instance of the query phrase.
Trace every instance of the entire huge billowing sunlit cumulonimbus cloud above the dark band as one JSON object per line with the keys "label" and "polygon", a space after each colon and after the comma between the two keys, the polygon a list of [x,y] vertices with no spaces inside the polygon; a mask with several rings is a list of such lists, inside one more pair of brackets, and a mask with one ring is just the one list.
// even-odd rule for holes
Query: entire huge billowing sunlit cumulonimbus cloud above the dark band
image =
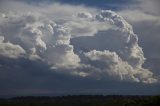
{"label": "entire huge billowing sunlit cumulonimbus cloud above the dark band", "polygon": [[115,12],[60,4],[29,8],[37,11],[1,12],[0,56],[40,59],[53,70],[82,77],[157,82],[142,67],[145,58],[132,26]]}

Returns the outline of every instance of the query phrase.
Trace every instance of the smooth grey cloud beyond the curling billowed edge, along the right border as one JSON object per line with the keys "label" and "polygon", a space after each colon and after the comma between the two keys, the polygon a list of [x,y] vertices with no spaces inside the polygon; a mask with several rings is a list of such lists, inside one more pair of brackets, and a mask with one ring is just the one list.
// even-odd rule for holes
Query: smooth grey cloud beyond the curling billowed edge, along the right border
{"label": "smooth grey cloud beyond the curling billowed edge, along the right border", "polygon": [[[139,38],[139,45],[143,48],[146,61],[145,68],[153,73],[159,73],[159,39],[160,39],[160,9],[158,0],[137,0],[138,3],[131,5],[129,9],[123,9],[118,13],[130,24]],[[153,46],[154,45],[154,46]],[[159,75],[159,74],[158,74]]]}

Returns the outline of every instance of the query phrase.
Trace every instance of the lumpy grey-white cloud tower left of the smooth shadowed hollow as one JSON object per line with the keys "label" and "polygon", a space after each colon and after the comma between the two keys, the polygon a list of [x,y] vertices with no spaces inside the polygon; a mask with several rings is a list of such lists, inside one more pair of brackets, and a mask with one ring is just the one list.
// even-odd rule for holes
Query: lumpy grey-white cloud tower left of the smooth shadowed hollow
{"label": "lumpy grey-white cloud tower left of the smooth shadowed hollow", "polygon": [[69,44],[71,35],[65,26],[50,20],[44,22],[33,14],[8,17],[2,21],[1,34],[6,41],[21,45],[28,58],[42,59],[58,67],[78,64],[79,58]]}

